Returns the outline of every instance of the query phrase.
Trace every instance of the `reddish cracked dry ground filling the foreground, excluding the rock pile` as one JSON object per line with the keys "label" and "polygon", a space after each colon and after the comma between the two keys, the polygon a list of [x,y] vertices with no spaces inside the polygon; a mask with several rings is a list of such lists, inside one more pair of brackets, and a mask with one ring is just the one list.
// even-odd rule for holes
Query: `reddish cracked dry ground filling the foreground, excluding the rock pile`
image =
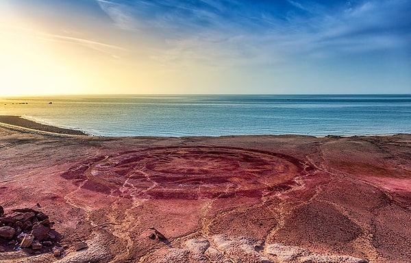
{"label": "reddish cracked dry ground filling the foreground, excluding the rock pile", "polygon": [[[99,138],[0,129],[0,205],[41,210],[64,258],[411,262],[411,136]],[[153,229],[166,239],[153,235]],[[77,242],[88,249],[75,251]]]}

